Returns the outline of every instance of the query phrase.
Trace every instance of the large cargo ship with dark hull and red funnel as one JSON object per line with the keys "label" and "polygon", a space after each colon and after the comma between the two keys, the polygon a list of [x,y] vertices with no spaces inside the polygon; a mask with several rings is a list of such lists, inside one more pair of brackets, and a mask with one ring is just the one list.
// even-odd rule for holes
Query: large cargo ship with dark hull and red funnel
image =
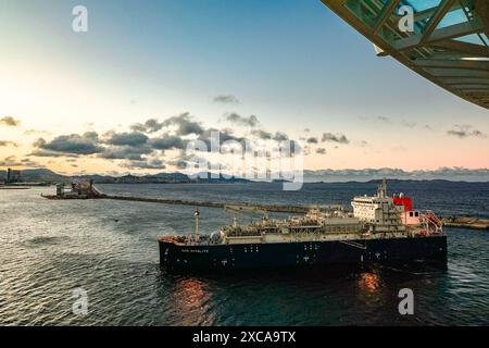
{"label": "large cargo ship with dark hull and red funnel", "polygon": [[[314,207],[301,216],[230,225],[210,235],[158,238],[160,263],[167,270],[220,271],[328,264],[436,261],[447,263],[447,236],[432,211],[413,208],[403,194],[388,196],[386,181],[375,196],[359,196],[352,210]],[[240,211],[249,207],[228,206]]]}

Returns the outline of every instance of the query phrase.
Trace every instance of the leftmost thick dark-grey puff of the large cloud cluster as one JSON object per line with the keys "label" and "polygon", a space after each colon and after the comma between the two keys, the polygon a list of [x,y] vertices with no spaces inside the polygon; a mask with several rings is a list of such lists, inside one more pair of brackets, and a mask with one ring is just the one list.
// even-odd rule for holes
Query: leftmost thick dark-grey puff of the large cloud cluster
{"label": "leftmost thick dark-grey puff of the large cloud cluster", "polygon": [[40,150],[68,154],[93,154],[103,151],[96,132],[87,132],[83,135],[63,135],[49,142],[39,138],[34,146]]}

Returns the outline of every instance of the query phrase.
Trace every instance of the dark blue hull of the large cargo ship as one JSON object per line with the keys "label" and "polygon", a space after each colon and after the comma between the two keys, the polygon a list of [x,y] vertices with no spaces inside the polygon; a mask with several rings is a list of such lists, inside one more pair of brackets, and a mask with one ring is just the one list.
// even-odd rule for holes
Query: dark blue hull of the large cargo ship
{"label": "dark blue hull of the large cargo ship", "polygon": [[327,264],[447,262],[447,236],[187,246],[159,240],[160,263],[167,270],[220,271]]}

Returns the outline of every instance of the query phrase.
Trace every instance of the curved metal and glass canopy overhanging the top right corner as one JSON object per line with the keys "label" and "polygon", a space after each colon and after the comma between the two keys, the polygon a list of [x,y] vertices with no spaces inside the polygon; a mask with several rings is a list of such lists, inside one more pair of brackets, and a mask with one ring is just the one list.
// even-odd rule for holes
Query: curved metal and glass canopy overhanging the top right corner
{"label": "curved metal and glass canopy overhanging the top right corner", "polygon": [[[489,109],[489,0],[322,1],[377,46],[379,55]],[[404,30],[399,24],[409,9],[414,25]]]}

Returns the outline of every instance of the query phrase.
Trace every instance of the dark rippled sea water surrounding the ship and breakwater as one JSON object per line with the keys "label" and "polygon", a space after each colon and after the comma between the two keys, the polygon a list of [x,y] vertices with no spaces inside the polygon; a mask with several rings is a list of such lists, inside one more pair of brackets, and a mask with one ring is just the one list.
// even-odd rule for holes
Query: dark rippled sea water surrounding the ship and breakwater
{"label": "dark rippled sea water surrounding the ship and breakwater", "polygon": [[[373,184],[100,185],[108,194],[202,201],[343,203]],[[489,217],[489,184],[392,184],[415,207]],[[193,208],[111,200],[49,201],[53,188],[0,190],[3,325],[432,325],[489,324],[489,232],[446,228],[446,270],[376,268],[177,276],[161,271],[158,235],[188,234]],[[204,232],[230,222],[202,208]],[[255,216],[259,217],[259,216]],[[241,217],[241,222],[250,220]],[[88,296],[75,315],[73,291]],[[414,291],[415,313],[398,312]]]}

